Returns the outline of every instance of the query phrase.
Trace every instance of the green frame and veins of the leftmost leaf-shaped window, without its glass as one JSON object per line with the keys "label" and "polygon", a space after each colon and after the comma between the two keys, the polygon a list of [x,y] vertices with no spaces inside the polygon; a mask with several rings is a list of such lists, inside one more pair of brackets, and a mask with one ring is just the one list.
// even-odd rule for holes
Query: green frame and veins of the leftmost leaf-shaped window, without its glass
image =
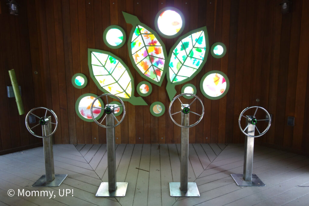
{"label": "green frame and veins of the leftmost leaf-shaped window, without its glass", "polygon": [[[108,90],[105,90],[104,88],[102,88],[102,86],[99,84],[98,80],[95,78],[95,75],[93,73],[93,68],[92,68],[92,64],[91,64],[91,54],[92,52],[96,52],[96,53],[101,53],[101,54],[106,54],[106,55],[109,55],[110,57],[116,59],[117,61],[119,61],[123,67],[125,68],[125,70],[127,71],[130,79],[131,79],[131,94],[129,94],[129,98],[122,98],[122,97],[119,97],[122,101],[128,101],[129,103],[133,104],[133,105],[147,105],[147,103],[144,101],[144,99],[142,99],[142,97],[135,97],[134,96],[134,79],[133,79],[133,76],[128,68],[128,66],[119,58],[119,57],[116,57],[114,54],[110,53],[110,52],[107,52],[107,51],[102,51],[102,50],[99,50],[99,49],[92,49],[92,48],[88,48],[88,67],[89,67],[89,72],[90,72],[90,76],[92,78],[92,80],[95,82],[96,86],[98,86],[98,88],[103,91],[104,93],[109,93],[110,92]],[[95,56],[95,55],[94,55]],[[97,61],[99,61],[97,59]],[[106,60],[107,61],[107,60]],[[118,62],[118,63],[119,63]],[[101,63],[99,61],[99,63]],[[117,64],[118,64],[117,63]],[[105,69],[105,64],[102,64],[103,65],[103,68]],[[102,67],[102,66],[101,66]],[[115,65],[115,68],[116,68],[116,65]],[[105,69],[107,71],[107,69]],[[110,73],[109,71],[108,72],[108,75],[111,75],[112,76],[112,73]],[[97,76],[97,75],[96,75]],[[99,76],[99,75],[98,75]],[[113,77],[112,77],[113,78]],[[120,80],[120,78],[118,80],[114,79],[116,82],[115,83],[118,83],[118,81]],[[118,83],[119,84],[119,83]],[[120,86],[120,85],[119,85]],[[122,88],[123,89],[123,88]],[[123,90],[124,92],[126,92],[126,90]],[[117,95],[116,95],[117,96]]]}

